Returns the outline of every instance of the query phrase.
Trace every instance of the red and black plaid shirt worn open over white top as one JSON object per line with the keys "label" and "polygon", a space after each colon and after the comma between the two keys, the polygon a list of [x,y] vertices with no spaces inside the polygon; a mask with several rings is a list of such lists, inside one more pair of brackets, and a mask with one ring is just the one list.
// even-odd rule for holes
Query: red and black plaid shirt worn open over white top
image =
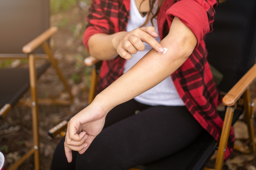
{"label": "red and black plaid shirt worn open over white top", "polygon": [[[168,34],[173,16],[177,16],[196,36],[197,45],[193,53],[171,74],[171,77],[186,108],[219,142],[223,121],[217,112],[219,95],[207,61],[204,43],[205,35],[213,29],[214,8],[217,4],[217,0],[165,0],[157,15],[157,22],[161,39]],[[87,17],[88,27],[83,39],[87,50],[87,42],[91,35],[126,31],[129,10],[130,0],[92,0]],[[125,61],[120,56],[103,61],[98,93],[122,75]],[[225,160],[233,150],[234,138],[231,128]]]}

